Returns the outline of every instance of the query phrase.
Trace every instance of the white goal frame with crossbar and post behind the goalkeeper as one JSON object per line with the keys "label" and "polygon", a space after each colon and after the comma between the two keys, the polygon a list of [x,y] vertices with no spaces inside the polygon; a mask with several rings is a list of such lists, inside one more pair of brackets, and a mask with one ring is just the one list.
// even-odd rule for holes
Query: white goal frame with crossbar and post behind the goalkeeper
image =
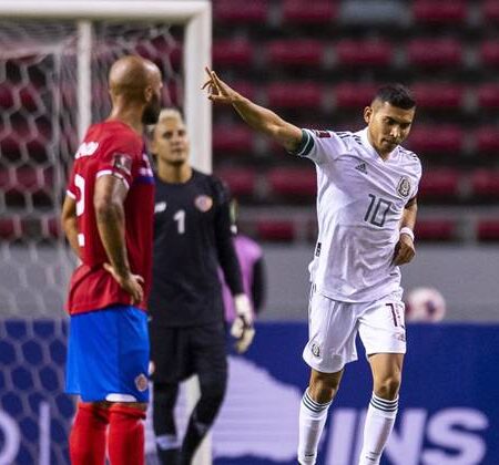
{"label": "white goal frame with crossbar and post behind the goalkeeper", "polygon": [[92,20],[159,21],[185,25],[183,63],[185,120],[191,134],[192,164],[212,168],[212,114],[202,96],[204,66],[211,65],[212,6],[204,0],[16,0],[0,1],[0,19],[74,20],[79,23],[79,136],[90,125],[90,52]]}

